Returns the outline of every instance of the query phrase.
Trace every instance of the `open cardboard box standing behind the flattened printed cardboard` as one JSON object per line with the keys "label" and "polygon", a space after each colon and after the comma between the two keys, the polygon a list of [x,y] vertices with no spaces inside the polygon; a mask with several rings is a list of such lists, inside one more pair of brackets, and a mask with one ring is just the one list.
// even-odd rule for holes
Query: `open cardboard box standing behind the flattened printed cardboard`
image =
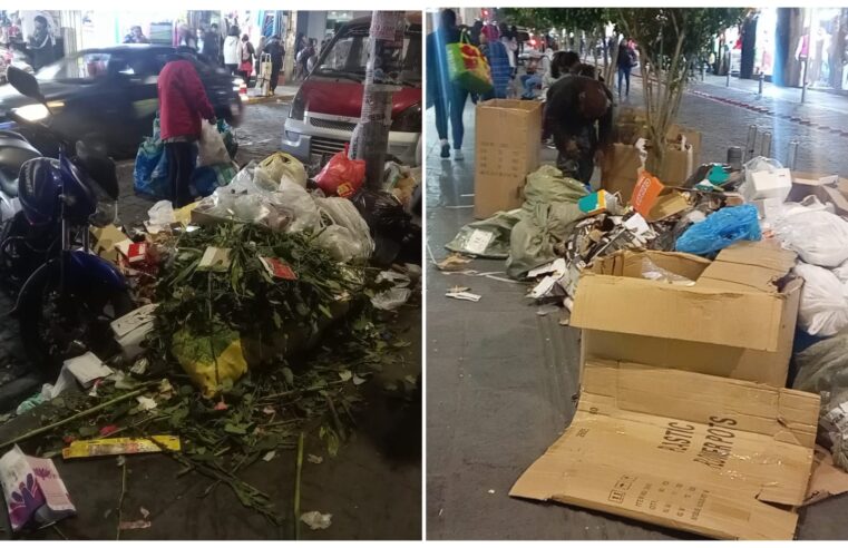
{"label": "open cardboard box standing behind the flattened printed cardboard", "polygon": [[[691,287],[641,277],[642,257]],[[595,261],[578,282],[572,325],[583,362],[632,361],[784,386],[800,278],[774,282],[796,254],[773,242],[742,242],[710,262],[684,253],[623,251]]]}

